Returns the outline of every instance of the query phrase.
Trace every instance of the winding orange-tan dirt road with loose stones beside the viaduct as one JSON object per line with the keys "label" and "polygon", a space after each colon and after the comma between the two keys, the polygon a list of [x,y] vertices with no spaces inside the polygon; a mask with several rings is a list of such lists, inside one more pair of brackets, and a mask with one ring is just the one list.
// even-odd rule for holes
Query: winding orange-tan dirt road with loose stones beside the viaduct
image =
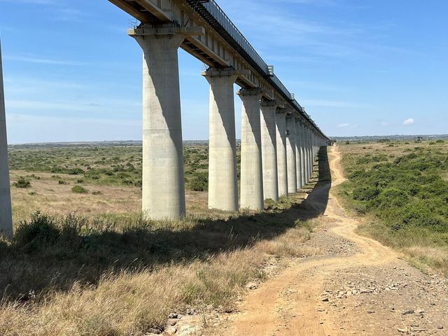
{"label": "winding orange-tan dirt road with loose stones beside the viaduct", "polygon": [[[332,186],[344,181],[337,147],[329,151]],[[241,302],[220,335],[448,335],[442,276],[419,272],[379,242],[355,233],[332,186],[308,204],[325,207],[325,225],[306,244],[323,253],[291,262]],[[325,198],[325,199],[324,199]]]}

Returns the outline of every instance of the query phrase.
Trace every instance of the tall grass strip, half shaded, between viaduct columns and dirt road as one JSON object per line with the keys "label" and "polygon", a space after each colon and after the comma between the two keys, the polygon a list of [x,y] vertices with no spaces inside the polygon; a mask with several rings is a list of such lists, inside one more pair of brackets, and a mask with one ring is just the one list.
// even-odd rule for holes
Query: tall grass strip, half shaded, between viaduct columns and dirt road
{"label": "tall grass strip, half shaded, between viaduct columns and dirt road", "polygon": [[144,335],[188,305],[231,311],[272,255],[309,255],[314,223],[299,212],[289,202],[165,223],[36,213],[0,244],[0,335]]}

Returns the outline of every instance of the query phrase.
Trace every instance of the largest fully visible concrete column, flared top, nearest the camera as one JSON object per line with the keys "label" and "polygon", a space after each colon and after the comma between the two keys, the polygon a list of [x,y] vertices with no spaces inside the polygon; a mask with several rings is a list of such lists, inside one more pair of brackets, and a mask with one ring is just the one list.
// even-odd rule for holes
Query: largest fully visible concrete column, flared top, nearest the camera
{"label": "largest fully visible concrete column, flared top, nearest the camera", "polygon": [[130,29],[144,52],[142,210],[154,219],[186,212],[177,50],[182,34]]}

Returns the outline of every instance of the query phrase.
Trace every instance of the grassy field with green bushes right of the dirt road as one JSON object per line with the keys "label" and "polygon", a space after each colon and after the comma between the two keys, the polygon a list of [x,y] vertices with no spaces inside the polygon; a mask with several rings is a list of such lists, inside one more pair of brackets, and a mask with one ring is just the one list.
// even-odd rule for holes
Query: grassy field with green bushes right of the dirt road
{"label": "grassy field with green bushes right of the dirt road", "polygon": [[415,265],[448,274],[448,143],[339,144],[345,205],[365,216],[360,232],[399,248]]}

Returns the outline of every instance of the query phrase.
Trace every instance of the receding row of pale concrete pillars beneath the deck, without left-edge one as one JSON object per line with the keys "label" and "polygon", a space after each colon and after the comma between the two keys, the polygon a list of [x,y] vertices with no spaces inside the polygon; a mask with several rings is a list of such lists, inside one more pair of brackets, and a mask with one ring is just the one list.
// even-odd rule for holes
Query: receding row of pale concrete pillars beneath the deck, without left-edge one
{"label": "receding row of pale concrete pillars beneath the deck, without left-edge one", "polygon": [[[176,31],[177,29],[177,31]],[[131,29],[144,52],[143,211],[155,219],[185,214],[177,50],[188,31]],[[194,33],[194,32],[193,32]],[[209,208],[262,210],[264,200],[297,193],[309,182],[323,139],[260,88],[241,88],[241,179],[238,197],[235,98],[239,73],[202,73],[209,92]],[[302,118],[302,117],[300,117]],[[316,139],[321,139],[320,144]]]}

